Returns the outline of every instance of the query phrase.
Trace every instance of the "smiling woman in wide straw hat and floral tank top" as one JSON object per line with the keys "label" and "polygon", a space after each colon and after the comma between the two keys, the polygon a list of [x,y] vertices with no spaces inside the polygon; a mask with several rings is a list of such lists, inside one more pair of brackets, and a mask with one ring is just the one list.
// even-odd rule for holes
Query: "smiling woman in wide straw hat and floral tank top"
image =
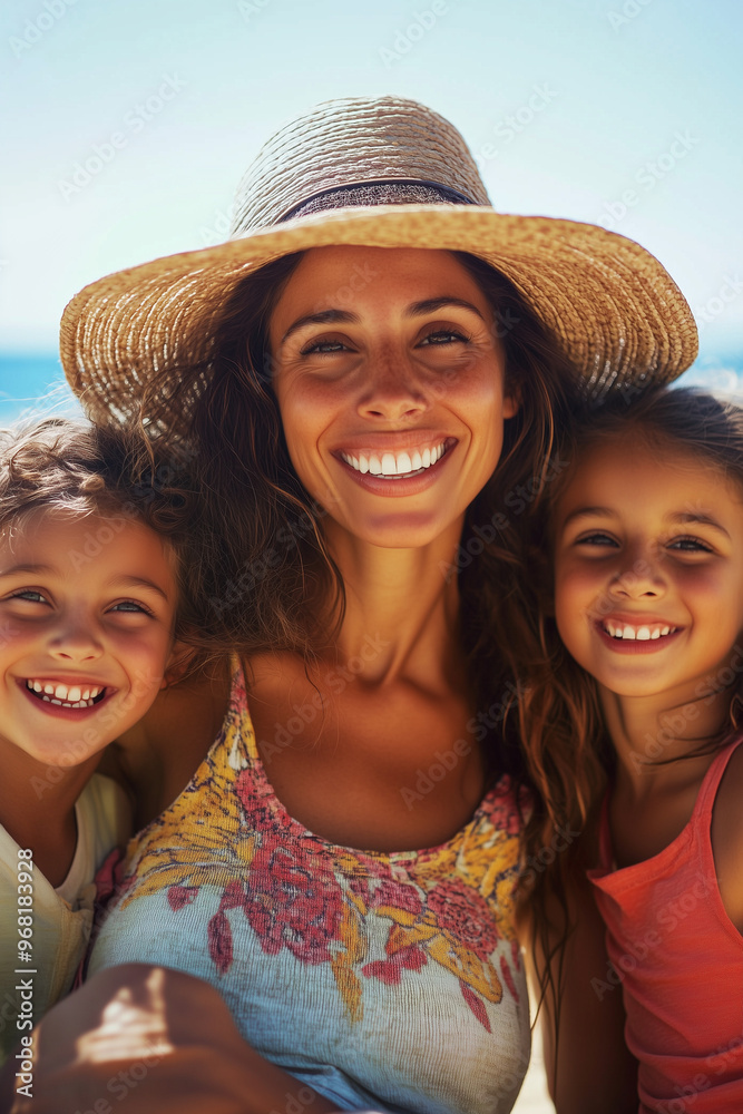
{"label": "smiling woman in wide straw hat and floral tank top", "polygon": [[[286,1104],[287,1079],[317,1111],[510,1108],[528,1061],[514,899],[529,804],[504,722],[530,637],[518,526],[581,377],[599,399],[692,361],[683,299],[623,237],[495,214],[428,109],[336,101],[264,148],[231,243],[88,287],[62,351],[98,420],[140,408],[206,477],[208,626],[238,651],[120,740],[147,827],[65,1024],[77,1010],[100,1048],[128,997],[127,1055],[143,1032],[169,1049],[158,1103],[182,1049],[214,1047],[213,1015],[233,1079],[235,1061],[247,1072],[225,1110]],[[590,929],[581,911],[574,947]],[[111,966],[135,960],[155,968]],[[290,1075],[237,1054],[213,1000],[188,1028],[184,999],[208,993],[162,967],[218,987]],[[564,1009],[609,1018],[587,979]],[[598,1053],[588,1078],[577,1032],[560,1102],[607,1108],[619,1084]],[[97,1055],[78,1057],[78,1103]],[[177,1108],[197,1079],[217,1108],[202,1063]],[[42,1087],[70,1078],[48,1065]],[[245,1100],[256,1079],[276,1089]]]}

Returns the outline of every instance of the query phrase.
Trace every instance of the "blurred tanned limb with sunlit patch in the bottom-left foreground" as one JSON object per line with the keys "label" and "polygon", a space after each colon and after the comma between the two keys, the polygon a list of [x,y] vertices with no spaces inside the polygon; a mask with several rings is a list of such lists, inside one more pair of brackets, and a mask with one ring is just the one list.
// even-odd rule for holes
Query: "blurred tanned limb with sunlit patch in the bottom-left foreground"
{"label": "blurred tanned limb with sunlit patch in the bottom-left foreground", "polygon": [[17,1063],[0,1076],[1,1114],[114,1114],[130,1093],[137,1114],[333,1111],[243,1040],[213,987],[144,964],[100,971],[40,1022],[32,1097],[16,1092]]}

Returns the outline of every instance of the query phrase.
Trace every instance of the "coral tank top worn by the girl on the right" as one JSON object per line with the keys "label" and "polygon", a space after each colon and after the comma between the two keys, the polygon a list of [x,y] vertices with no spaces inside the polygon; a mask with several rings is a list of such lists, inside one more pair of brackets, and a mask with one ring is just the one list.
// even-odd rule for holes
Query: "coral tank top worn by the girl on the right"
{"label": "coral tank top worn by the girl on the right", "polygon": [[599,997],[622,983],[641,1114],[743,1112],[743,937],[720,896],[710,834],[741,741],[715,755],[684,830],[644,862],[613,869],[605,802],[600,866],[588,877],[612,966],[594,983]]}

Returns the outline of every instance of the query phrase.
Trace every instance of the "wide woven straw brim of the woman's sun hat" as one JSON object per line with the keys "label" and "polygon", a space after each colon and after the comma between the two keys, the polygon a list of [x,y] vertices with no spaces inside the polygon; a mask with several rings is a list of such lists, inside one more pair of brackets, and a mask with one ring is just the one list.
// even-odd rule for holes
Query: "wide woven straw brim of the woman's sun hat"
{"label": "wide woven straw brim of the woman's sun hat", "polygon": [[341,208],[100,278],[62,315],[61,361],[91,417],[136,410],[145,383],[208,362],[225,302],[251,271],[292,252],[349,244],[469,252],[509,277],[584,379],[588,398],[665,383],[697,352],[683,294],[617,233],[485,206]]}

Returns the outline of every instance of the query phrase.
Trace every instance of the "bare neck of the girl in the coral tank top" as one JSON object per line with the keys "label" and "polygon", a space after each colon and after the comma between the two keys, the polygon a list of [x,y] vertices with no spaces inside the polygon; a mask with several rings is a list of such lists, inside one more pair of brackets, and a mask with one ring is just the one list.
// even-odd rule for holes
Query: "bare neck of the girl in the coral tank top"
{"label": "bare neck of the girl in the coral tank top", "polygon": [[[618,696],[599,685],[606,726],[617,753],[617,783],[642,800],[704,775],[710,753],[686,759],[714,739],[730,716],[730,692]],[[683,762],[672,761],[685,759]]]}

